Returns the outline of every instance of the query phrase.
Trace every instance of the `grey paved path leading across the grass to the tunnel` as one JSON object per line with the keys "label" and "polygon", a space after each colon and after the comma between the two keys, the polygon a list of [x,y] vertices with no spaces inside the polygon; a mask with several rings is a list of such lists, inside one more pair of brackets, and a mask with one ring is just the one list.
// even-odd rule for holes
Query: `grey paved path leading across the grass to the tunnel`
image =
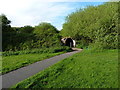
{"label": "grey paved path leading across the grass to the tunnel", "polygon": [[54,56],[49,59],[45,59],[43,61],[39,61],[33,64],[30,64],[26,67],[22,67],[20,69],[17,69],[15,71],[9,72],[7,74],[2,75],[2,88],[9,88],[12,85],[46,69],[47,67],[57,63],[58,61],[65,59],[77,52],[80,52],[81,50],[78,51],[73,51],[73,52],[68,52],[65,54],[61,54],[58,56]]}

